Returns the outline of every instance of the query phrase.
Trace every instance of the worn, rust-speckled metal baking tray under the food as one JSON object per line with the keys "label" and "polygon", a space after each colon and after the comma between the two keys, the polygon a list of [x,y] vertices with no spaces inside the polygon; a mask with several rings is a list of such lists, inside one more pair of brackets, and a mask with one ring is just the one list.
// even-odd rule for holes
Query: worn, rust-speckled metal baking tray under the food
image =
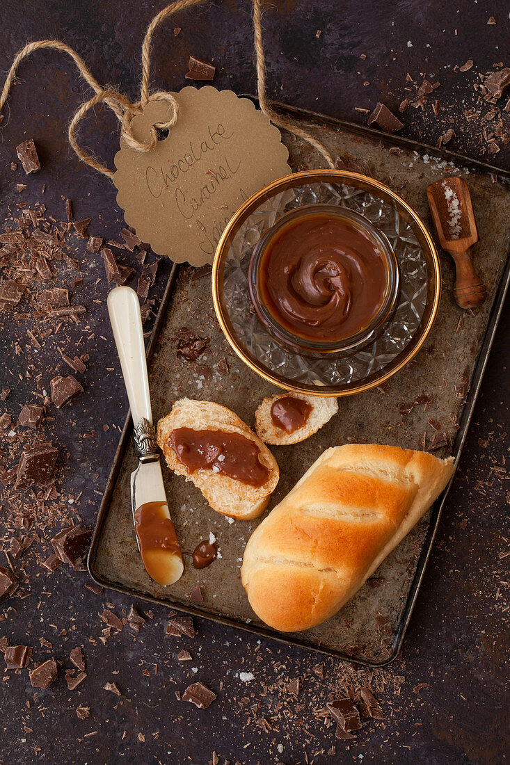
{"label": "worn, rust-speckled metal baking tray under the food", "polygon": [[[371,174],[397,190],[431,229],[426,187],[450,174],[466,177],[479,226],[479,243],[473,248],[476,269],[489,296],[476,312],[461,311],[453,301],[453,262],[441,253],[443,295],[436,322],[416,360],[395,375],[387,389],[339,399],[339,412],[319,433],[302,444],[273,448],[280,465],[280,483],[269,509],[278,503],[309,465],[332,445],[371,441],[420,448],[423,431],[433,438],[429,418],[440,422],[450,438],[456,461],[463,448],[469,421],[482,382],[492,339],[510,281],[510,173],[479,161],[454,155],[405,138],[340,122],[335,119],[276,105],[319,135],[332,156],[347,162],[364,160]],[[315,152],[306,143],[283,133],[293,169],[316,166]],[[400,154],[389,148],[400,148]],[[178,359],[175,333],[188,327],[208,337],[208,349],[195,363]],[[159,308],[148,348],[149,383],[155,420],[168,413],[183,396],[211,399],[234,409],[248,425],[264,396],[276,392],[237,359],[214,316],[211,279],[204,269],[173,266]],[[227,359],[230,372],[221,376],[216,364]],[[463,396],[463,392],[466,395]],[[423,404],[423,395],[432,399]],[[422,400],[410,413],[399,404]],[[436,535],[448,488],[433,508],[388,555],[374,577],[325,624],[305,633],[283,634],[265,627],[250,609],[240,584],[244,545],[260,519],[227,522],[214,513],[201,493],[182,477],[165,468],[165,486],[181,546],[191,552],[214,534],[221,559],[197,571],[185,556],[185,575],[168,591],[146,574],[136,548],[129,500],[129,474],[136,466],[130,417],[119,441],[90,548],[90,575],[106,588],[141,597],[175,610],[211,619],[250,633],[357,662],[383,666],[397,656],[417,598],[423,571]],[[201,585],[204,602],[192,603],[189,594]]]}

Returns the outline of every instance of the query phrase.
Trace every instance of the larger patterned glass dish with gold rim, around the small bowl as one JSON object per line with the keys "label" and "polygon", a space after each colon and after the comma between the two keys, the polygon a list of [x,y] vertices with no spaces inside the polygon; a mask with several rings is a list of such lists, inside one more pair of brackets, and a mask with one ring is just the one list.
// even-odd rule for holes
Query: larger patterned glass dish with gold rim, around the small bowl
{"label": "larger patterned glass dish with gold rim, around the small bowl", "polygon": [[[355,210],[387,237],[397,259],[400,293],[394,313],[377,337],[362,347],[303,356],[277,341],[253,308],[249,288],[253,247],[281,216],[310,204]],[[294,173],[250,197],[224,230],[212,272],[217,319],[237,355],[275,386],[312,396],[349,396],[367,390],[409,363],[433,325],[440,284],[436,248],[413,208],[384,184],[339,170]]]}

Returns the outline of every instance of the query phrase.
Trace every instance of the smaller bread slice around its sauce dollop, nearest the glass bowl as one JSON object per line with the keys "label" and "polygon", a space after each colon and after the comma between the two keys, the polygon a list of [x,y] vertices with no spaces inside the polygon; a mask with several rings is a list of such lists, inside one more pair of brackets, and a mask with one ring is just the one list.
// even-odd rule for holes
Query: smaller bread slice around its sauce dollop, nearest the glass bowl
{"label": "smaller bread slice around its sauce dollop, nearest the glass bowl", "polygon": [[[273,422],[271,409],[273,404],[280,399],[300,399],[312,407],[306,422],[292,433],[286,432]],[[275,446],[298,444],[299,441],[305,441],[306,438],[316,433],[337,412],[337,399],[304,396],[302,393],[280,393],[278,396],[273,396],[272,399],[264,399],[260,404],[257,412],[255,412],[255,431],[261,441],[265,441],[266,444],[274,444]]]}

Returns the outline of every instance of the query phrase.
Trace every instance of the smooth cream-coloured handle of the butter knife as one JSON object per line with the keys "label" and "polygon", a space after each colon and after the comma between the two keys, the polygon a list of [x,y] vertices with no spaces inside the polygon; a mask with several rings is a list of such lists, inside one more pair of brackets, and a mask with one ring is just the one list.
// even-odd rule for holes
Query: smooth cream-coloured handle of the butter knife
{"label": "smooth cream-coloured handle of the butter knife", "polygon": [[149,420],[152,425],[142,315],[134,289],[114,288],[108,295],[108,313],[126,383],[133,425],[136,427],[142,418]]}

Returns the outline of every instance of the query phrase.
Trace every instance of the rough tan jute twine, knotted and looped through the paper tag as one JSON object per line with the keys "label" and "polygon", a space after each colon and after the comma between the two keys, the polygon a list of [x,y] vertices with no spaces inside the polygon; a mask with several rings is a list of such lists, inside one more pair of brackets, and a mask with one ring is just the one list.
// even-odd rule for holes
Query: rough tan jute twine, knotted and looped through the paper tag
{"label": "rough tan jute twine, knotted and looped through the paper tag", "polygon": [[[93,157],[93,155],[87,154],[86,151],[83,151],[83,149],[80,148],[76,138],[77,125],[87,114],[87,112],[90,111],[90,109],[93,109],[93,107],[99,103],[105,103],[106,106],[109,106],[110,109],[112,109],[117,119],[119,120],[121,125],[120,133],[126,144],[136,151],[151,151],[151,149],[154,148],[156,143],[159,141],[160,131],[171,128],[173,125],[175,125],[175,122],[177,122],[178,118],[178,102],[175,99],[175,96],[172,96],[172,93],[167,93],[166,91],[150,93],[149,90],[152,37],[154,36],[156,28],[166,18],[174,15],[175,13],[178,13],[178,11],[183,11],[186,8],[192,8],[195,5],[201,5],[203,3],[204,0],[178,0],[178,2],[167,5],[162,9],[162,11],[159,11],[159,14],[155,15],[155,17],[152,19],[149,27],[147,28],[147,31],[145,32],[145,37],[142,44],[142,85],[140,88],[140,99],[136,103],[132,103],[126,96],[123,95],[123,93],[119,93],[119,91],[114,90],[110,86],[101,86],[100,83],[97,82],[96,78],[93,77],[93,75],[88,70],[87,65],[83,61],[82,57],[80,57],[80,55],[77,54],[76,51],[73,50],[73,48],[71,48],[69,45],[56,40],[38,40],[32,43],[28,43],[25,45],[25,47],[18,51],[18,54],[16,54],[15,59],[11,64],[11,68],[8,71],[8,75],[2,89],[2,95],[0,95],[0,112],[5,106],[5,102],[11,90],[11,86],[14,83],[16,71],[18,69],[19,63],[21,63],[21,60],[33,53],[34,50],[39,50],[41,48],[52,48],[54,50],[61,50],[62,52],[67,53],[74,60],[74,63],[76,63],[81,77],[87,81],[87,83],[96,94],[88,101],[83,103],[82,106],[77,109],[77,112],[74,113],[67,133],[70,146],[80,161],[85,162],[86,164],[90,165],[91,168],[94,168],[94,170],[103,173],[103,175],[106,175],[107,177],[113,177],[115,174],[114,171],[106,168],[106,166],[101,164],[100,161]],[[266,64],[264,60],[262,44],[260,0],[253,0],[253,32],[257,67],[257,91],[259,96],[260,109],[275,125],[279,125],[294,135],[299,136],[299,138],[303,138],[303,140],[312,145],[317,151],[319,151],[319,154],[325,158],[329,164],[329,167],[334,168],[332,157],[329,154],[329,151],[327,151],[321,142],[310,135],[309,132],[306,132],[306,130],[300,128],[299,125],[297,125],[296,122],[293,122],[292,119],[288,119],[277,114],[270,107],[266,96]],[[168,117],[167,121],[156,122],[154,125],[152,125],[150,129],[150,140],[142,142],[135,138],[134,135],[132,135],[131,122],[133,117],[142,114],[143,109],[150,101],[166,101],[171,107],[170,116]]]}

